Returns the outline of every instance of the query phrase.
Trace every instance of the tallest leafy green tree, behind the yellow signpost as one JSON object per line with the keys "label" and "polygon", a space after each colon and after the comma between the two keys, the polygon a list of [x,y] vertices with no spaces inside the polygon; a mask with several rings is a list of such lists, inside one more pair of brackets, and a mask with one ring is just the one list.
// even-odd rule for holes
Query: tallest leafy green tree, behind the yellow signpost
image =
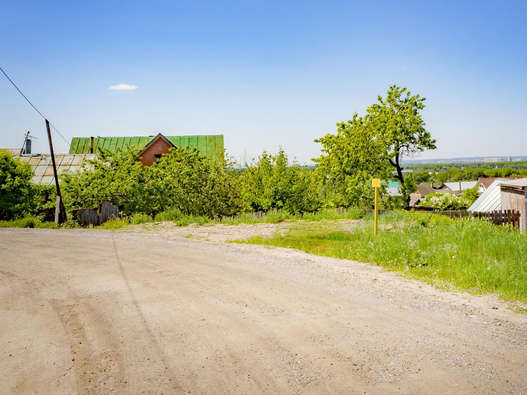
{"label": "tallest leafy green tree, behind the yellow signpost", "polygon": [[355,113],[352,120],[337,123],[336,135],[315,140],[322,144],[323,155],[313,161],[336,185],[344,205],[371,204],[372,177],[397,179],[407,205],[415,184],[405,183],[402,159],[435,149],[435,140],[419,113],[424,97],[392,85],[386,100],[380,95],[377,99],[378,103],[366,108],[364,117]]}

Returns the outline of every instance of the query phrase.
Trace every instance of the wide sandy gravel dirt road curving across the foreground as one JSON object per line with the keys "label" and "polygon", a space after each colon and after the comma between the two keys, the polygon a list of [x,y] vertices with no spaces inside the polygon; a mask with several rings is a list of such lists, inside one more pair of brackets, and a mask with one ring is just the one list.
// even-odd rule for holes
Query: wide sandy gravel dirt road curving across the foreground
{"label": "wide sandy gravel dirt road curving across the foreground", "polygon": [[525,314],[372,265],[1,229],[0,278],[2,394],[527,393]]}

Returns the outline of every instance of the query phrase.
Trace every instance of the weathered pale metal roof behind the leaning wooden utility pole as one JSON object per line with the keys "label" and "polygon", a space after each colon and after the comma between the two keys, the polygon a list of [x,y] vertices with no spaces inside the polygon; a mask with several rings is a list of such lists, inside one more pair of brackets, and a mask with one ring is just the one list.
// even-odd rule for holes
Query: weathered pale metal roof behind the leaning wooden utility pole
{"label": "weathered pale metal roof behind the leaning wooden utility pole", "polygon": [[[55,184],[53,164],[50,154],[23,154],[19,156],[22,162],[29,162],[33,167],[33,182],[45,185]],[[91,170],[92,165],[86,160],[95,159],[95,154],[61,154],[55,155],[57,174]]]}

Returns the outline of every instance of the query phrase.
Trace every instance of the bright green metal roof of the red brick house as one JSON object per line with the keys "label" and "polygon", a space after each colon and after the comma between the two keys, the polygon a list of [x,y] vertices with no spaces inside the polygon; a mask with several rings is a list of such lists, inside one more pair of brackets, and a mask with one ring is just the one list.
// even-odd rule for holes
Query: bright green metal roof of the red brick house
{"label": "bright green metal roof of the red brick house", "polygon": [[[93,147],[97,145],[111,151],[120,148],[126,151],[126,145],[133,149],[142,150],[155,136],[145,137],[95,137]],[[197,148],[200,154],[211,159],[220,157],[223,152],[223,135],[214,136],[165,136],[177,147]],[[71,140],[70,154],[89,154],[90,137],[73,137]]]}

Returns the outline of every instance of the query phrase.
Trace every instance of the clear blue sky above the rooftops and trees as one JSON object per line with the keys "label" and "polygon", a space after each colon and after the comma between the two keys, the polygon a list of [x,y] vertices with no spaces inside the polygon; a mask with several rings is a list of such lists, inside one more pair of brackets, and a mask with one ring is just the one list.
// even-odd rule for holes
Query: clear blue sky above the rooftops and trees
{"label": "clear blue sky above the rooftops and trees", "polygon": [[[313,140],[389,85],[427,97],[437,150],[527,155],[526,2],[3,1],[0,67],[66,137],[223,134],[229,154]],[[135,90],[109,90],[112,85]],[[40,115],[0,75],[0,146]],[[57,153],[68,143],[54,134]]]}

